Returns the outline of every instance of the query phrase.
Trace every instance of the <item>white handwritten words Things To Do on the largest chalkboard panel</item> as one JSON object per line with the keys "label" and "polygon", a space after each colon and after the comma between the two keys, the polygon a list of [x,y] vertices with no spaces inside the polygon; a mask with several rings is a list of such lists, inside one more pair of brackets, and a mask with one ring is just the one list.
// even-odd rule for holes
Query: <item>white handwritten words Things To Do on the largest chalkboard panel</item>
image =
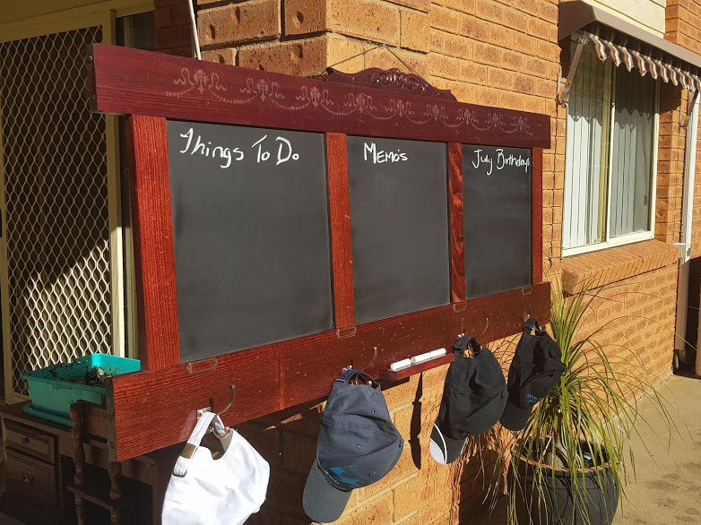
{"label": "white handwritten words Things To Do on the largest chalkboard panel", "polygon": [[[196,135],[195,139],[193,128],[190,128],[186,133],[180,133],[180,136],[185,139],[186,142],[184,148],[180,150],[180,153],[184,155],[189,153],[190,155],[201,155],[202,157],[210,159],[218,159],[221,161],[220,168],[222,169],[229,168],[233,162],[243,160],[246,156],[246,152],[240,148],[212,146],[211,141],[204,142],[202,140],[202,135]],[[264,144],[267,138],[268,135],[264,135],[251,145],[257,163],[266,162],[271,159],[271,152]],[[275,142],[277,142],[278,146],[277,155],[273,158],[275,160],[275,166],[280,166],[282,163],[290,160],[299,160],[299,153],[292,151],[292,143],[288,139],[285,137],[275,137]]]}

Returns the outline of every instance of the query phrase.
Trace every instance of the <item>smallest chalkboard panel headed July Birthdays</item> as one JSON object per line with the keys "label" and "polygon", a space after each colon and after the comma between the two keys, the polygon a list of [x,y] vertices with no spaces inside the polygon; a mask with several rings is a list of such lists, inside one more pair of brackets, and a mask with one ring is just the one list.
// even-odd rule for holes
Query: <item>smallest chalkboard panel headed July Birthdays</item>
{"label": "smallest chalkboard panel headed July Birthdays", "polygon": [[463,144],[467,298],[529,286],[532,154]]}

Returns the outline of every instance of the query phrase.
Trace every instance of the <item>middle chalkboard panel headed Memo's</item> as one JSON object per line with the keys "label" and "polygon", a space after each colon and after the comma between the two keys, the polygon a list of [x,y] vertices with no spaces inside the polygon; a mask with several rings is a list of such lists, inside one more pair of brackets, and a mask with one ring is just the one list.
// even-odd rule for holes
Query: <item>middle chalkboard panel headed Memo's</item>
{"label": "middle chalkboard panel headed Memo's", "polygon": [[450,302],[446,143],[348,137],[356,323]]}

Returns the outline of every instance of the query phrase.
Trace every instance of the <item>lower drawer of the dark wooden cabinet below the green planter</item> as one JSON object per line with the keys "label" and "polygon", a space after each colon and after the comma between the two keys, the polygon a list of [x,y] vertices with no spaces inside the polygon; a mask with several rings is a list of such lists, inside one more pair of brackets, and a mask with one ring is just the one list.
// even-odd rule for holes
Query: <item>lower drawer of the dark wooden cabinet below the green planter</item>
{"label": "lower drawer of the dark wooden cabinet below the green planter", "polygon": [[7,494],[44,509],[56,509],[56,468],[7,449]]}

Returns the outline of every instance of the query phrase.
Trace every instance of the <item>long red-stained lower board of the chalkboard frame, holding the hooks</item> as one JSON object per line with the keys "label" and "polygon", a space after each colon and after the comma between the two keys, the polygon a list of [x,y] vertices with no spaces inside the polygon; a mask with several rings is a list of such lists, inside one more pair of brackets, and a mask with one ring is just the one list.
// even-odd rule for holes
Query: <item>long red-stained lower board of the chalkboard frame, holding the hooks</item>
{"label": "long red-stained lower board of the chalkboard frame, holding the hooks", "polygon": [[[377,377],[379,370],[430,349],[453,346],[461,333],[497,340],[521,331],[524,313],[550,322],[550,283],[521,288],[463,303],[360,324],[354,337],[326,331],[256,349],[205,359],[190,374],[187,364],[117,375],[108,380],[108,414],[114,420],[110,458],[126,460],[181,443],[195,426],[195,411],[229,402],[237,385],[227,425],[318,400],[331,391],[342,367],[350,364]],[[486,319],[489,318],[489,323]]]}

